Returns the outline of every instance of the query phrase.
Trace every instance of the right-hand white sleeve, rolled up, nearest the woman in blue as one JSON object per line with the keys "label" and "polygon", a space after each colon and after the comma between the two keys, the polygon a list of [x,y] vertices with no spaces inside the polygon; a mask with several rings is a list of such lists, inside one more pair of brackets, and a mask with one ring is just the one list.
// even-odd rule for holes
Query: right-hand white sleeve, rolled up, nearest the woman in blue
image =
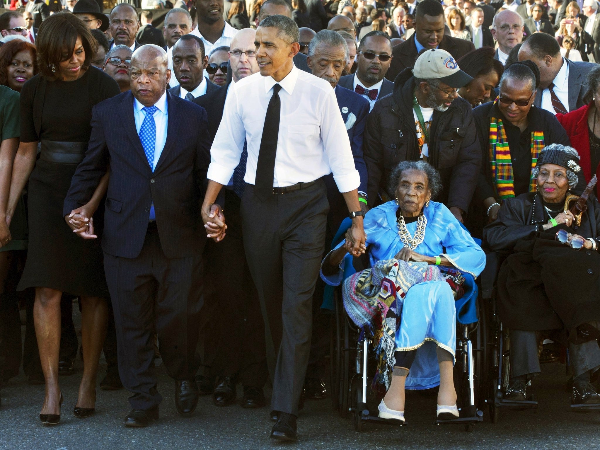
{"label": "right-hand white sleeve, rolled up, nearest the woman in blue", "polygon": [[334,174],[335,184],[340,192],[353,191],[361,184],[361,176],[356,170],[350,139],[341,118],[334,89],[325,95],[321,110],[321,139],[325,157]]}

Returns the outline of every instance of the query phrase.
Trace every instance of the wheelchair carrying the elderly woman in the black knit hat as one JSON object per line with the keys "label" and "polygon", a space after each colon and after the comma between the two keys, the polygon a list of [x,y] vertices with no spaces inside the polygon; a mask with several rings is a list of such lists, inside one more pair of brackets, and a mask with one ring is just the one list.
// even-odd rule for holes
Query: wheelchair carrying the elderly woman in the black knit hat
{"label": "wheelchair carrying the elderly woman in the black knit hat", "polygon": [[[497,313],[497,275],[506,255],[499,253],[486,253],[485,269],[481,273],[481,317],[482,339],[485,352],[483,355],[484,378],[481,380],[481,407],[489,407],[490,420],[497,424],[500,409],[508,410],[536,410],[538,401],[535,394],[529,393],[526,400],[514,401],[503,398],[503,392],[509,386],[510,368],[510,342],[508,329],[503,326]],[[564,348],[564,347],[563,347]],[[569,350],[564,349],[565,370],[569,374]],[[572,412],[600,411],[600,405],[571,404]]]}

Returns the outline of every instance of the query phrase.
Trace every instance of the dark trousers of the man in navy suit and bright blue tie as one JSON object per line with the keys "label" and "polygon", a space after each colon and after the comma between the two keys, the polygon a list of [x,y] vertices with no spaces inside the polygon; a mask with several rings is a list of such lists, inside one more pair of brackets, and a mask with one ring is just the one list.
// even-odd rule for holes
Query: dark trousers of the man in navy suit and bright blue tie
{"label": "dark trousers of the man in navy suit and bright blue tie", "polygon": [[118,345],[119,376],[132,408],[160,404],[152,332],[170,377],[193,379],[202,293],[200,255],[168,259],[156,229],[149,229],[139,256],[104,253]]}

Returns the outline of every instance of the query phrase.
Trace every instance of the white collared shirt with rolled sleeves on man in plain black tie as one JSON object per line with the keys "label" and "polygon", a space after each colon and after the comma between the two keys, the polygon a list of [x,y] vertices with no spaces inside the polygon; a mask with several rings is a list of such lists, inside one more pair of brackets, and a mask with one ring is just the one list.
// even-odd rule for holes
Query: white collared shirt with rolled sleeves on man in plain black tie
{"label": "white collared shirt with rolled sleeves on man in plain black tie", "polygon": [[[230,86],[223,119],[211,147],[209,179],[226,185],[247,140],[244,181],[254,184],[266,110],[276,84],[255,73]],[[281,115],[274,187],[311,182],[333,172],[340,192],[358,188],[350,140],[331,84],[292,67],[278,83]]]}

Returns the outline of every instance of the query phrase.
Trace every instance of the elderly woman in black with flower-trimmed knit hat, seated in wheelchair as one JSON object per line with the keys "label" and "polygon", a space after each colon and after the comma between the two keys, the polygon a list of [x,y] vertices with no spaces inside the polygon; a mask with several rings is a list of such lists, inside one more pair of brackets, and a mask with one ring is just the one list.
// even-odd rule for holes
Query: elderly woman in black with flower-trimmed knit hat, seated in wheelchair
{"label": "elderly woman in black with flower-trimmed knit hat, seated in wheelchair", "polygon": [[497,282],[499,317],[510,329],[508,400],[526,400],[527,383],[540,372],[543,333],[568,346],[572,403],[600,404],[590,382],[600,368],[600,206],[592,196],[574,216],[565,205],[580,172],[574,148],[545,147],[533,170],[535,190],[506,199],[484,229],[491,250],[512,252]]}

